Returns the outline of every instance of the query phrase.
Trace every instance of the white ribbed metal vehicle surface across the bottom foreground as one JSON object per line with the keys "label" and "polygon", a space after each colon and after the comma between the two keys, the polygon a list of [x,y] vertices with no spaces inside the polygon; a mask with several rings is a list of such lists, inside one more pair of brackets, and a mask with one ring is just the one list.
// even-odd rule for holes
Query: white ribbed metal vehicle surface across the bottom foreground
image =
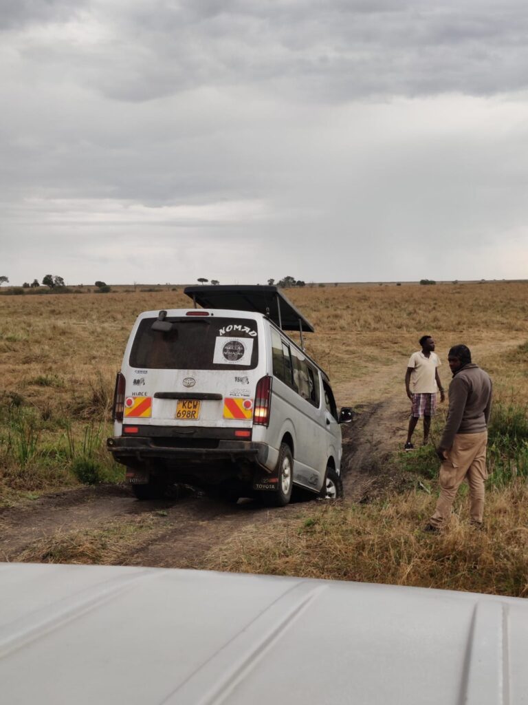
{"label": "white ribbed metal vehicle surface across the bottom foreground", "polygon": [[6,705],[519,705],[527,655],[521,599],[0,564]]}

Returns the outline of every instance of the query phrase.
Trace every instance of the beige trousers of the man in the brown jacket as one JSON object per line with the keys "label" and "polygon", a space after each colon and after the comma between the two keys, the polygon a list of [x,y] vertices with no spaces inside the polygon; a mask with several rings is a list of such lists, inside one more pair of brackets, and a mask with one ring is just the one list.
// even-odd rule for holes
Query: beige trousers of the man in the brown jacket
{"label": "beige trousers of the man in the brown jacket", "polygon": [[446,451],[440,466],[440,496],[431,517],[431,524],[441,527],[451,513],[451,505],[460,484],[466,479],[470,486],[470,517],[482,524],[484,514],[484,480],[486,471],[487,431],[479,434],[456,434],[453,446]]}

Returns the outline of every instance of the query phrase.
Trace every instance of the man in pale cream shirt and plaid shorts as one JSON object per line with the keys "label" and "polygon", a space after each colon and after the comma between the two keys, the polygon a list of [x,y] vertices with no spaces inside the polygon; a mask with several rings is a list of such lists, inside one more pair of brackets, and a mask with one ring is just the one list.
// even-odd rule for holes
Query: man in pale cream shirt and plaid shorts
{"label": "man in pale cream shirt and plaid shorts", "polygon": [[438,368],[440,358],[434,352],[431,336],[422,336],[419,341],[422,350],[410,356],[406,372],[406,391],[411,401],[409,430],[405,450],[413,450],[411,441],[418,419],[424,419],[424,445],[429,441],[431,417],[436,411],[436,391],[440,390],[440,400],[446,398],[441,385]]}

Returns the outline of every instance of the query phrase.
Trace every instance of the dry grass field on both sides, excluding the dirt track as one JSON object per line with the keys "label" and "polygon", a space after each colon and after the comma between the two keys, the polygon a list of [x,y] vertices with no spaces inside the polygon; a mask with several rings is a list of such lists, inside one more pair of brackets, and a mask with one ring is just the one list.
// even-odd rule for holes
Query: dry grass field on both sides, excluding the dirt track
{"label": "dry grass field on both sides, excluding the dirt track", "polygon": [[[405,415],[406,362],[423,334],[436,340],[446,387],[448,348],[466,343],[472,349],[496,391],[489,455],[495,473],[489,481],[486,529],[470,529],[467,497],[461,494],[444,534],[420,532],[434,507],[437,466],[431,446],[412,458],[398,452],[405,437],[400,421],[395,424],[399,431],[385,439],[393,454],[383,462],[390,472],[414,478],[406,491],[387,489],[366,504],[308,503],[287,515],[277,510],[265,525],[234,530],[201,567],[524,596],[528,283],[314,286],[286,294],[315,325],[316,333],[306,336],[308,352],[329,373],[338,405],[353,405],[358,412],[386,402],[399,419]],[[0,295],[0,506],[27,505],[83,482],[121,481],[122,468],[108,458],[104,441],[130,327],[143,310],[188,305],[181,288]],[[436,434],[439,427],[441,418]],[[76,558],[74,552],[66,560],[122,562],[119,545],[128,540],[127,526],[120,539],[113,525],[108,553],[92,550],[92,531],[92,539],[86,535],[80,542],[92,546],[87,553],[92,559]],[[99,548],[101,540],[93,539]],[[23,559],[39,557],[29,551]]]}

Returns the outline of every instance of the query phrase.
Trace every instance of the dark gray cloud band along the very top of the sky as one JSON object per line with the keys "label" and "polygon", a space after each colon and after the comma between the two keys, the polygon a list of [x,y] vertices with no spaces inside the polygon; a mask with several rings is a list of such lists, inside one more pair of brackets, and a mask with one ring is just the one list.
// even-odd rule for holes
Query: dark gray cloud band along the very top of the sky
{"label": "dark gray cloud band along the very top of the sky", "polygon": [[[26,3],[19,15],[10,7],[25,23],[67,23],[74,9],[65,0]],[[98,0],[77,20],[84,41],[44,33],[22,42],[22,60],[39,61],[42,72],[66,67],[73,80],[126,102],[250,84],[310,101],[527,86],[520,3]]]}

